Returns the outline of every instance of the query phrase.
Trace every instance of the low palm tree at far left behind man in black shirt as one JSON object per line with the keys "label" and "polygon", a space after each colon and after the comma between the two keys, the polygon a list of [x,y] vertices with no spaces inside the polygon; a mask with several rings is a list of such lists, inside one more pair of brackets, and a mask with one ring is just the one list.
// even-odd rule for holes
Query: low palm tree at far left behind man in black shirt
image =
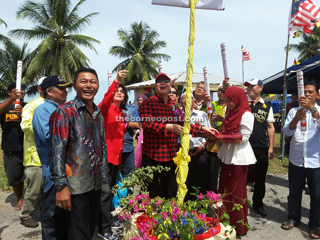
{"label": "low palm tree at far left behind man in black shirt", "polygon": [[[31,63],[34,56],[30,54],[30,50],[27,48],[27,44],[23,44],[19,47],[12,41],[4,42],[4,48],[0,49],[0,99],[6,99],[7,87],[11,82],[16,81],[16,65],[17,61],[22,61],[22,82],[25,86],[30,86],[30,82],[25,77],[27,68]],[[35,92],[28,91],[29,95],[33,95]]]}

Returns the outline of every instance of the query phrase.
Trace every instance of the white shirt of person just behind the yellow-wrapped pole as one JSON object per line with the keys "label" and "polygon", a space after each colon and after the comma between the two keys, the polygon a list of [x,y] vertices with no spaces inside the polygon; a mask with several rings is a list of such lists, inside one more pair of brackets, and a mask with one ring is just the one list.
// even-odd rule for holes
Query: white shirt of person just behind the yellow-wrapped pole
{"label": "white shirt of person just behind the yellow-wrapped pole", "polygon": [[[183,112],[184,113],[184,112]],[[209,118],[206,112],[193,109],[190,114],[190,124],[200,124],[205,127],[211,127]],[[192,137],[192,134],[189,134],[190,144],[189,148],[193,149],[195,147],[201,146],[201,144],[206,143],[205,138],[201,137]],[[178,137],[178,143],[181,143],[181,136]]]}

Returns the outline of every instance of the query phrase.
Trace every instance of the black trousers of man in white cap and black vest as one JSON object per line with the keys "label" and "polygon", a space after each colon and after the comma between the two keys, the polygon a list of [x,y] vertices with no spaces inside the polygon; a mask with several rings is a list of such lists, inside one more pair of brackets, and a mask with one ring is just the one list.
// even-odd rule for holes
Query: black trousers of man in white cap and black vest
{"label": "black trousers of man in white cap and black vest", "polygon": [[268,172],[269,148],[252,148],[256,156],[255,164],[255,192],[252,196],[252,207],[256,210],[263,208],[263,198],[266,193],[266,175]]}

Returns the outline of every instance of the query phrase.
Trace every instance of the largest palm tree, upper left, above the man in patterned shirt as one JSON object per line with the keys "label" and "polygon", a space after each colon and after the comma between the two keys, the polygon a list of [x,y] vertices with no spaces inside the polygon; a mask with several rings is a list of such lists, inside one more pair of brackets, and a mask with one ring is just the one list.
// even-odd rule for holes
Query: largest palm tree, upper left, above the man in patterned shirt
{"label": "largest palm tree, upper left, above the man in patterned shirt", "polygon": [[46,75],[59,75],[72,81],[78,68],[89,65],[89,59],[79,46],[96,52],[93,44],[100,42],[79,33],[90,26],[91,18],[98,13],[80,17],[78,13],[84,2],[80,0],[72,8],[70,0],[27,0],[18,8],[17,19],[27,18],[34,27],[12,30],[10,35],[28,41],[41,40],[32,51],[35,57],[27,69],[29,78],[36,80]]}

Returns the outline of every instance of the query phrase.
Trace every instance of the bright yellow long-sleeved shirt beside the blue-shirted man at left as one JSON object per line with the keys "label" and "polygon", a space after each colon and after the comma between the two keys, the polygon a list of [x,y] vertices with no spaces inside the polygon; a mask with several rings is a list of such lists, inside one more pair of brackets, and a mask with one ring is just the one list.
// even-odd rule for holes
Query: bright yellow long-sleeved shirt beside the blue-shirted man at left
{"label": "bright yellow long-sleeved shirt beside the blue-shirted man at left", "polygon": [[[37,166],[41,167],[41,162],[35,148],[32,117],[33,112],[40,104],[43,104],[45,99],[41,96],[34,99],[24,106],[22,110],[22,120],[20,123],[21,129],[24,132],[23,139],[23,165],[24,166]],[[48,152],[47,152],[48,153]]]}

